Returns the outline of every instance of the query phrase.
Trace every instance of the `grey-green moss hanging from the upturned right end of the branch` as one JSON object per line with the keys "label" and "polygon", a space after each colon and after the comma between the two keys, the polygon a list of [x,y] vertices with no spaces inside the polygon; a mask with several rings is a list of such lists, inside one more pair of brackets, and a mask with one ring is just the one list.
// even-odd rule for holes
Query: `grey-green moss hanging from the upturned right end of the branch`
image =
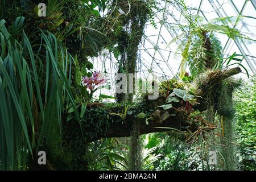
{"label": "grey-green moss hanging from the upturned right end of the branch", "polygon": [[[206,72],[197,79],[197,90],[204,92],[205,106],[207,107],[207,119],[218,127],[218,134],[209,139],[208,150],[220,153],[217,167],[222,170],[236,170],[236,154],[234,144],[235,114],[232,93],[240,88],[241,79],[226,78],[221,71]],[[216,117],[220,118],[219,120]]]}

